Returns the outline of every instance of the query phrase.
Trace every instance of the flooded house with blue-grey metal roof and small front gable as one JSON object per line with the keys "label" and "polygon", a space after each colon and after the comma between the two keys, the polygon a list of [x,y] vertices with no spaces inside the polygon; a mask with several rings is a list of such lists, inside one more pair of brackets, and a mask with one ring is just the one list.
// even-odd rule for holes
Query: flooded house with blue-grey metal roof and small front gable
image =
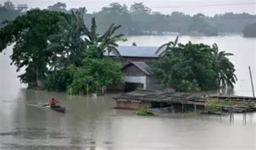
{"label": "flooded house with blue-grey metal roof and small front gable", "polygon": [[153,76],[153,71],[146,62],[157,60],[159,56],[156,54],[158,47],[151,46],[119,46],[117,47],[122,56],[114,57],[109,54],[117,62],[122,62],[122,72],[124,74],[125,85],[120,88],[121,91],[130,92],[137,88],[147,90],[161,90],[162,87],[157,79]]}

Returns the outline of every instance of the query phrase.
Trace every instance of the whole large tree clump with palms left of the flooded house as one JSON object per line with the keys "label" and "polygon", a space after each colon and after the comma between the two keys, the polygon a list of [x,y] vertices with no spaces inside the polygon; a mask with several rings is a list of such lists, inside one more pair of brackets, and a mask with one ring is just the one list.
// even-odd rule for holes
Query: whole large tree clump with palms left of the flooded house
{"label": "whole large tree clump with palms left of the flooded house", "polygon": [[0,30],[0,52],[15,43],[12,64],[17,71],[25,67],[19,79],[30,88],[85,93],[122,83],[121,65],[104,55],[120,56],[116,42],[126,40],[115,34],[120,25],[112,24],[99,36],[95,18],[89,29],[83,15],[84,9],[71,14],[28,11]]}

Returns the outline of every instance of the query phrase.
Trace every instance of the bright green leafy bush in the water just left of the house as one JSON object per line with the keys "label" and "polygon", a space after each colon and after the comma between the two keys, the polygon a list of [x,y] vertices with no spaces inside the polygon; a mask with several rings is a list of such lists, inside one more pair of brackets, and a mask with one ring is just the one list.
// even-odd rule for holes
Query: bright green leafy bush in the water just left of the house
{"label": "bright green leafy bush in the water just left of the house", "polygon": [[91,46],[84,53],[82,66],[69,66],[73,81],[68,86],[69,93],[95,92],[101,87],[123,83],[122,66],[109,58],[97,58],[97,46]]}

